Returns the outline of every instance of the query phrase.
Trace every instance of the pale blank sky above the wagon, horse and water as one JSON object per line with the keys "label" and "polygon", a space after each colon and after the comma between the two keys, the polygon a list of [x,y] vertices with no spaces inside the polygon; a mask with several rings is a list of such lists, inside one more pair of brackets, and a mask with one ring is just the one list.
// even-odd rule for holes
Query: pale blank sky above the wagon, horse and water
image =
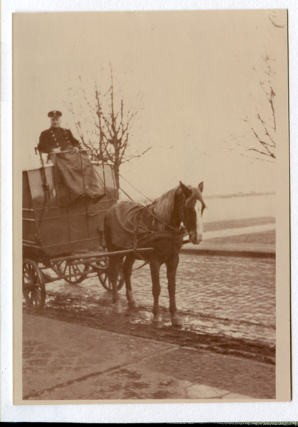
{"label": "pale blank sky above the wagon, horse and water", "polygon": [[[243,118],[255,120],[256,105],[270,123],[260,88],[267,54],[276,71],[276,141],[287,149],[286,22],[284,10],[15,14],[18,165],[39,167],[34,147],[50,110],[63,112],[61,125],[78,137],[67,108],[70,100],[83,103],[73,97],[78,76],[88,94],[93,81],[105,90],[111,63],[127,107],[143,94],[130,153],[151,147],[120,169],[130,196],[142,199],[139,190],[155,199],[179,181],[203,181],[208,195],[275,191],[275,164],[233,150],[231,135],[254,143]],[[76,113],[87,117],[79,107]]]}

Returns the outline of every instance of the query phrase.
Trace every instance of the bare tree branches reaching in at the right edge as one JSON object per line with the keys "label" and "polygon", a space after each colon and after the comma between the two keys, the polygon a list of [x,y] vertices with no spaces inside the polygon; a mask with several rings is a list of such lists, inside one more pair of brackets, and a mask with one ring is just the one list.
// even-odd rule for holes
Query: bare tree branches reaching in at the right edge
{"label": "bare tree branches reaching in at the right edge", "polygon": [[252,97],[252,101],[255,105],[255,114],[248,115],[244,113],[244,118],[242,119],[248,126],[248,135],[237,136],[233,134],[232,137],[238,147],[245,149],[248,157],[250,157],[249,153],[253,152],[257,159],[275,162],[277,132],[275,115],[276,94],[272,83],[275,75],[272,63],[275,62],[275,59],[265,54],[265,56],[262,56],[262,60],[265,63],[265,70],[262,75],[258,73],[255,67],[253,67],[252,70],[262,90],[264,102],[257,103]]}

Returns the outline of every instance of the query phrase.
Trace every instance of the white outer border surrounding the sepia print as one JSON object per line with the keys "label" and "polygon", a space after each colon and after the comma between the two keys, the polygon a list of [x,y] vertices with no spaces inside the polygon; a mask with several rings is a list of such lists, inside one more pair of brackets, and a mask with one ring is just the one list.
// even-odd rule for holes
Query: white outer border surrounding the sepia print
{"label": "white outer border surrounding the sepia print", "polygon": [[[237,7],[235,7],[235,5]],[[183,7],[181,7],[183,6]],[[46,11],[146,11],[204,9],[288,9],[289,108],[292,227],[292,401],[245,404],[117,404],[13,406],[12,404],[12,59],[11,14]],[[83,1],[1,2],[1,416],[3,422],[177,423],[297,421],[297,41],[298,6],[292,1]],[[296,147],[295,147],[296,145]]]}

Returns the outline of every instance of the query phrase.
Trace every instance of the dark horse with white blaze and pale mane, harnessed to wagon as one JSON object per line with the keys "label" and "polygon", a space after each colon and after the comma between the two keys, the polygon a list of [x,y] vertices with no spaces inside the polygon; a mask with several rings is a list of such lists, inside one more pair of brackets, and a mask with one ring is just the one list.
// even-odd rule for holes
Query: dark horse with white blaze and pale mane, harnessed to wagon
{"label": "dark horse with white blaze and pale mane, harnessed to wagon", "polygon": [[[117,202],[107,211],[104,221],[107,251],[133,249],[128,254],[111,254],[109,257],[107,274],[112,283],[112,312],[122,312],[117,292],[117,278],[121,268],[129,309],[137,309],[137,302],[132,294],[131,276],[134,261],[142,259],[150,265],[154,298],[153,323],[156,327],[162,326],[159,311],[161,265],[166,264],[171,325],[179,327],[181,318],[175,299],[179,251],[183,245],[183,237],[187,234],[194,245],[198,245],[203,239],[202,216],[206,207],[202,197],[203,182],[198,184],[198,188],[186,186],[181,181],[179,183],[179,186],[167,191],[149,205],[141,206],[130,201]],[[153,250],[138,252],[139,248],[148,246]]]}

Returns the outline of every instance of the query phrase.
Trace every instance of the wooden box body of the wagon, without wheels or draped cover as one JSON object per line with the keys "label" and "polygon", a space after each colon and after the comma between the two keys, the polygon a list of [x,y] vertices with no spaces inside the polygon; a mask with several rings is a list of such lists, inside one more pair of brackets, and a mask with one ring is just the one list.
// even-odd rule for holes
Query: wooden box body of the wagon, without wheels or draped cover
{"label": "wooden box body of the wagon, without wheels or draped cover", "polygon": [[115,176],[107,164],[93,167],[105,196],[96,203],[83,197],[64,207],[58,206],[53,165],[23,171],[24,258],[43,262],[70,253],[98,251],[104,246],[105,212],[117,199]]}

